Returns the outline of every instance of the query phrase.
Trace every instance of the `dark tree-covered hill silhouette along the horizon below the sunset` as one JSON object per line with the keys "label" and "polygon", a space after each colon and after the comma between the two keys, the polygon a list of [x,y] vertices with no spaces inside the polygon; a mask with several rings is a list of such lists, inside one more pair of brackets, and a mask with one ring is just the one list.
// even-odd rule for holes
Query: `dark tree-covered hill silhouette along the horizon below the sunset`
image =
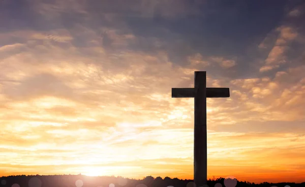
{"label": "dark tree-covered hill silhouette along the horizon below the sunset", "polygon": [[[121,176],[86,176],[86,175],[12,175],[0,177],[1,187],[195,187],[193,180],[182,180],[178,178],[146,176],[143,179],[130,179]],[[259,184],[248,181],[238,181],[230,178],[209,179],[209,187],[235,187],[235,186],[305,186],[302,183],[268,183]],[[286,186],[288,187],[288,186]]]}

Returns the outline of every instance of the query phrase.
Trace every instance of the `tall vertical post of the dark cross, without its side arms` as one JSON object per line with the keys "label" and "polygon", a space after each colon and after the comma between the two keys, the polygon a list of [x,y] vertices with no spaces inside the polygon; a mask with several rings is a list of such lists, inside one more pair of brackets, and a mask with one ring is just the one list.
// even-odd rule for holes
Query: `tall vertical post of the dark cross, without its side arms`
{"label": "tall vertical post of the dark cross, without its side arms", "polygon": [[206,72],[195,72],[194,104],[194,182],[201,186],[207,182]]}

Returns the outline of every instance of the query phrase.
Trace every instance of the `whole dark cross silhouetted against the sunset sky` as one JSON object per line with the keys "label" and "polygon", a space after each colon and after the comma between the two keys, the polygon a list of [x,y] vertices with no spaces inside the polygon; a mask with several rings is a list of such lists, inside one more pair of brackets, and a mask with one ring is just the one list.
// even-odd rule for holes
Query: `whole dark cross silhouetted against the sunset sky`
{"label": "whole dark cross silhouetted against the sunset sky", "polygon": [[229,88],[207,88],[206,72],[195,71],[194,88],[172,88],[172,98],[194,98],[194,183],[207,182],[206,98],[229,98]]}

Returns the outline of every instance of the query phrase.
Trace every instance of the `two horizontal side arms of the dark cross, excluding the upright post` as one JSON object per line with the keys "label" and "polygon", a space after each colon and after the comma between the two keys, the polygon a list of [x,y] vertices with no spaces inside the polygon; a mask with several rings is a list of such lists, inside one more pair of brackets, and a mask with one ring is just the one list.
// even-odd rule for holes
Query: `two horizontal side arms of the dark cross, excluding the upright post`
{"label": "two horizontal side arms of the dark cross, excluding the upright post", "polygon": [[[194,98],[195,88],[172,88],[172,98]],[[207,98],[229,98],[229,88],[206,88]]]}

